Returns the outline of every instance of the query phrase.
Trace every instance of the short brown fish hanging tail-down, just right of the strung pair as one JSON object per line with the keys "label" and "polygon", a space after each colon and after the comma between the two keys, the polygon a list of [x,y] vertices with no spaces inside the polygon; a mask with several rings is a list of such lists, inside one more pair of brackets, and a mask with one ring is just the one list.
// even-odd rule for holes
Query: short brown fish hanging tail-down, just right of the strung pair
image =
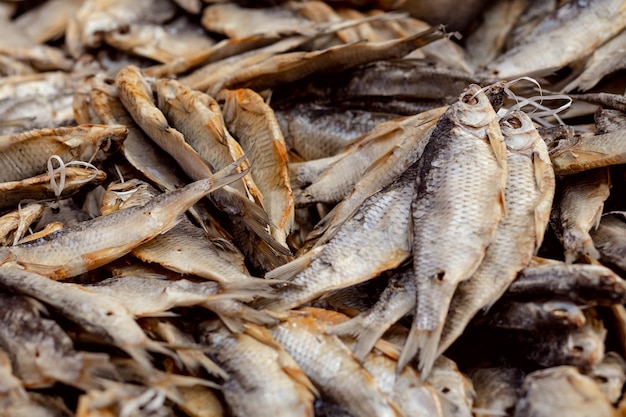
{"label": "short brown fish hanging tail-down, just right of the strung pair", "polygon": [[565,262],[581,256],[598,259],[589,231],[600,224],[604,201],[609,197],[608,168],[597,168],[563,178],[560,195],[552,211],[555,232],[565,249]]}

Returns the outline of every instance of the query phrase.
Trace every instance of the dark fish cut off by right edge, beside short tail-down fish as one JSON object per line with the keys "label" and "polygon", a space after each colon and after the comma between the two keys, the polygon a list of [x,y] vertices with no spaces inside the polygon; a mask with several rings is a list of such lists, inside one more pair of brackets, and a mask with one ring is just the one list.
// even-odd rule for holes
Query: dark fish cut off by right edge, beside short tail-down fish
{"label": "dark fish cut off by right edge, beside short tail-down fish", "polygon": [[624,259],[626,250],[626,215],[624,213],[607,213],[600,219],[600,225],[591,231],[593,243],[600,252],[603,262],[613,264],[626,271]]}

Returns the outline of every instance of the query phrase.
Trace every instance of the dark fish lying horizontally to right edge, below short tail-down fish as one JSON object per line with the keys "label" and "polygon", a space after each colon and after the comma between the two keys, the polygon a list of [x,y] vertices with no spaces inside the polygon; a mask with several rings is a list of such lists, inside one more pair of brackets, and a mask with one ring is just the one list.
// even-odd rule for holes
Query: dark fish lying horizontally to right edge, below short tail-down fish
{"label": "dark fish lying horizontally to right edge, below short tail-down fish", "polygon": [[626,303],[626,281],[602,265],[528,266],[520,271],[505,296],[514,299],[568,298],[580,305]]}

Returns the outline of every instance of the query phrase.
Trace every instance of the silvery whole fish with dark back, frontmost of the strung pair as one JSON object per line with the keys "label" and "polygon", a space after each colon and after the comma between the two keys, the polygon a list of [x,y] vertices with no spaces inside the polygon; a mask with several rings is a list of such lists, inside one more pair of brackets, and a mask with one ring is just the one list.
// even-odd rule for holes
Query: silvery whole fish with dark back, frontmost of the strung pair
{"label": "silvery whole fish with dark back, frontmost of the strung pair", "polygon": [[441,116],[417,165],[411,204],[417,302],[398,366],[419,351],[425,378],[454,291],[480,265],[504,212],[506,146],[479,86],[471,85]]}

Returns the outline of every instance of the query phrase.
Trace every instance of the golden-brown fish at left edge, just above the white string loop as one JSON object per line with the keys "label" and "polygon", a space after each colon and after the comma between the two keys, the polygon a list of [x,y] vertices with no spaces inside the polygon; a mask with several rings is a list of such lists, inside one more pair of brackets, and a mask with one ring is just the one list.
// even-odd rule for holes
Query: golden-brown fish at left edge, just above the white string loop
{"label": "golden-brown fish at left edge, just above the white string loop", "polygon": [[64,163],[101,161],[127,134],[125,126],[88,124],[0,136],[0,182],[21,181],[46,172],[52,155]]}

